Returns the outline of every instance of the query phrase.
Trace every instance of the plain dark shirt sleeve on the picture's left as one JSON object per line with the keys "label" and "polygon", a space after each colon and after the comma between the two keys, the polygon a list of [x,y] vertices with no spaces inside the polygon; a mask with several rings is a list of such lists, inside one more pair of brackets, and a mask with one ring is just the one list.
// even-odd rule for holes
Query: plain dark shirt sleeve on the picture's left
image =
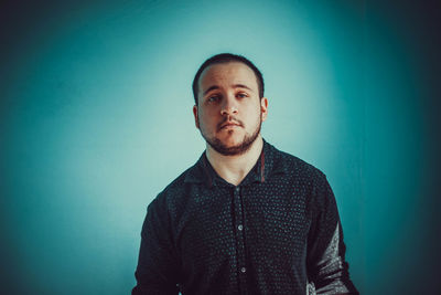
{"label": "plain dark shirt sleeve on the picture's left", "polygon": [[138,266],[135,273],[137,285],[132,295],[178,294],[178,259],[174,254],[170,219],[164,198],[154,199],[141,231]]}

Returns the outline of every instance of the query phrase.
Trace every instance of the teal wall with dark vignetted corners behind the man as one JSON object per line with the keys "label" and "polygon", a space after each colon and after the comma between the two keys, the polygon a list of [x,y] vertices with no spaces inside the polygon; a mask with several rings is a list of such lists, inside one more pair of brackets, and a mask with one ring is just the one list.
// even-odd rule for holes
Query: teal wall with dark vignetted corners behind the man
{"label": "teal wall with dark vignetted corners behind the man", "polygon": [[220,52],[263,73],[263,137],[326,173],[362,294],[435,294],[441,13],[421,2],[2,2],[1,294],[130,292]]}

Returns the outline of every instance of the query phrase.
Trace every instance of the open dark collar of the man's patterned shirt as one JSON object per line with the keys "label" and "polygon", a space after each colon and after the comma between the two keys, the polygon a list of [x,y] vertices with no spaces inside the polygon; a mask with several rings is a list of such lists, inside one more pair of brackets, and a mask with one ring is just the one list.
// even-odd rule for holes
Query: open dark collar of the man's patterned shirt
{"label": "open dark collar of the man's patterned shirt", "polygon": [[[265,182],[268,178],[276,173],[287,173],[288,167],[280,160],[280,151],[263,139],[263,148],[256,165],[240,182],[247,185],[250,182]],[[219,182],[227,183],[214,170],[205,151],[201,155],[197,162],[189,169],[184,182],[205,183],[208,188],[217,186]]]}

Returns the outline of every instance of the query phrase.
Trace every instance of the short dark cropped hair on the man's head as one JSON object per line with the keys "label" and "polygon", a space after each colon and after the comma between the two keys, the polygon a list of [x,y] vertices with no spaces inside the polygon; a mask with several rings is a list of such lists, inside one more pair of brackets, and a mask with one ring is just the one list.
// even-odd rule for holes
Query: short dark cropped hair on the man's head
{"label": "short dark cropped hair on the man's head", "polygon": [[230,62],[239,62],[239,63],[244,63],[246,65],[248,65],[252,72],[255,72],[256,75],[256,81],[257,81],[257,86],[259,88],[259,97],[263,97],[263,76],[260,73],[259,69],[257,69],[257,66],[251,63],[248,59],[241,56],[241,55],[236,55],[236,54],[232,54],[232,53],[220,53],[220,54],[216,54],[213,55],[212,57],[209,57],[208,60],[206,60],[201,67],[197,70],[196,75],[194,76],[193,80],[193,96],[194,96],[194,102],[197,106],[197,93],[198,93],[198,82],[200,82],[200,77],[202,72],[209,65],[212,64],[216,64],[216,63],[230,63]]}

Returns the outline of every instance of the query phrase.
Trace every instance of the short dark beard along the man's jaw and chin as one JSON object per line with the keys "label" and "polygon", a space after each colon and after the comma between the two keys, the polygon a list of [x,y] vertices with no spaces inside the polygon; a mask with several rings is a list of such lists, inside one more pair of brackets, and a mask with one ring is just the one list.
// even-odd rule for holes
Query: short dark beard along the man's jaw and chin
{"label": "short dark beard along the man's jaw and chin", "polygon": [[[261,115],[259,116],[259,123],[257,124],[255,130],[252,134],[246,134],[244,136],[244,139],[241,140],[240,144],[235,145],[235,146],[226,146],[219,138],[216,136],[214,137],[207,137],[203,134],[201,129],[201,135],[204,137],[205,141],[217,152],[224,156],[238,156],[244,152],[246,152],[251,145],[256,141],[257,137],[260,134],[260,128],[261,128],[262,119]],[[243,126],[243,125],[241,125]]]}

